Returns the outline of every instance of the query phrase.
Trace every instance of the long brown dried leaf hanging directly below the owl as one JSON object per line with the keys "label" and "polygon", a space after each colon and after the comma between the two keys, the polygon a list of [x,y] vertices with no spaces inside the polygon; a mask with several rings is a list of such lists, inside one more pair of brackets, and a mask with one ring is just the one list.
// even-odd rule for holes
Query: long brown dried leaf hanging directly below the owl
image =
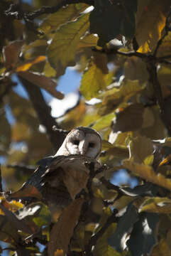
{"label": "long brown dried leaf hanging directly below the owl", "polygon": [[54,256],[55,252],[59,251],[59,249],[60,252],[62,249],[67,253],[70,239],[72,238],[75,225],[79,218],[82,203],[84,203],[84,199],[78,198],[62,211],[59,220],[55,223],[50,233],[48,255]]}

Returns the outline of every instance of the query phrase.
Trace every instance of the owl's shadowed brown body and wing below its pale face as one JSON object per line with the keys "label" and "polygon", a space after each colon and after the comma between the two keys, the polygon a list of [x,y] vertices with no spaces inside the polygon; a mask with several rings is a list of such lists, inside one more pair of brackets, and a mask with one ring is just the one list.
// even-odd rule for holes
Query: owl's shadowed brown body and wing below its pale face
{"label": "owl's shadowed brown body and wing below its pale face", "polygon": [[87,186],[89,169],[85,163],[94,162],[94,169],[101,165],[85,156],[55,156],[40,161],[40,166],[28,181],[11,198],[38,198],[49,203],[62,203],[64,206]]}

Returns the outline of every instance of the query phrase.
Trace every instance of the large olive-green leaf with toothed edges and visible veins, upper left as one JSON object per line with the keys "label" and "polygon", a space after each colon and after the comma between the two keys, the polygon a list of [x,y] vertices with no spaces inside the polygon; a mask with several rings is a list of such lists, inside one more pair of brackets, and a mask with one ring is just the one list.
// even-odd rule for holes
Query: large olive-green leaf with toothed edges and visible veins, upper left
{"label": "large olive-green leaf with toothed edges and visible veins, upper left", "polygon": [[89,14],[83,14],[76,21],[66,23],[56,31],[48,47],[48,60],[53,68],[66,68],[73,64],[80,38],[89,27]]}

